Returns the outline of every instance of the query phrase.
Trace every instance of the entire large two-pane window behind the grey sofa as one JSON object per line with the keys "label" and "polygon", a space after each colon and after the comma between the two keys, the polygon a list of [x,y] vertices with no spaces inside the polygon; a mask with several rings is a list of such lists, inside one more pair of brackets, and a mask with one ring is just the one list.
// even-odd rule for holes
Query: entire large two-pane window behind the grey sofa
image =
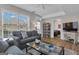
{"label": "entire large two-pane window behind the grey sofa", "polygon": [[13,31],[28,30],[28,16],[18,14],[11,11],[0,12],[0,38],[9,37]]}

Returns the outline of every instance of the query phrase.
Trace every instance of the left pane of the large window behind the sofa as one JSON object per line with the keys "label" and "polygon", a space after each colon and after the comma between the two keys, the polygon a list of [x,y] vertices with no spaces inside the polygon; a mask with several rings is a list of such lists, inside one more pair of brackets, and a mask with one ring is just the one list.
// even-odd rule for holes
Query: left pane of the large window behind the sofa
{"label": "left pane of the large window behind the sofa", "polygon": [[3,33],[4,37],[8,37],[11,32],[18,30],[18,19],[15,13],[3,13]]}

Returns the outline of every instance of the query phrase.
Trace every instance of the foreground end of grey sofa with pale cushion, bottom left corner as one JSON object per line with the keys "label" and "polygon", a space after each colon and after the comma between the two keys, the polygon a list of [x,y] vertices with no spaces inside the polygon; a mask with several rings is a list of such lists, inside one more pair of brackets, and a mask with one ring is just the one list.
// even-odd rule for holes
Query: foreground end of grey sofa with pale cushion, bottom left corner
{"label": "foreground end of grey sofa with pale cushion, bottom left corner", "polygon": [[0,54],[1,55],[25,55],[17,46],[10,46],[7,41],[0,40]]}

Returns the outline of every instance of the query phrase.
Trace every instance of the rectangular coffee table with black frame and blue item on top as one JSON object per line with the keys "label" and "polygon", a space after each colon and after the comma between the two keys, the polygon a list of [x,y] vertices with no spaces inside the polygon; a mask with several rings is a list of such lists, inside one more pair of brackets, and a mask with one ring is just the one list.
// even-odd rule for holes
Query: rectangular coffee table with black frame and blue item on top
{"label": "rectangular coffee table with black frame and blue item on top", "polygon": [[[30,53],[32,55],[34,55],[35,52],[37,52],[38,55],[59,55],[63,52],[61,47],[57,47],[55,45],[51,45],[43,42],[41,42],[40,45],[38,46],[36,46],[34,42],[27,43],[26,46],[27,46],[26,53]],[[35,51],[31,52],[32,50]]]}

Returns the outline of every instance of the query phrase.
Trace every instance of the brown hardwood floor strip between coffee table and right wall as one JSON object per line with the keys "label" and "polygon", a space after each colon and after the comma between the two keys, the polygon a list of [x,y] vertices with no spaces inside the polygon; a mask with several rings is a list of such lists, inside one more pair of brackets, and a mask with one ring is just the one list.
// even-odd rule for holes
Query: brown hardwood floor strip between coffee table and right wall
{"label": "brown hardwood floor strip between coffee table and right wall", "polygon": [[77,52],[77,54],[79,54],[79,44],[75,45],[73,43],[66,42],[59,38],[43,38],[42,41],[46,43],[54,44],[57,46],[63,46],[64,48],[74,50]]}

